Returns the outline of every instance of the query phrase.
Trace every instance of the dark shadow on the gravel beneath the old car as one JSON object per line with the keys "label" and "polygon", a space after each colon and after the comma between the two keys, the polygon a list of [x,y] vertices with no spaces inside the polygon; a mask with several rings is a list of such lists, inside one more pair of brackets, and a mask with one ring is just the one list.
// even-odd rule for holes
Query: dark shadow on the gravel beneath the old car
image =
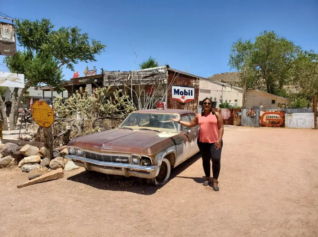
{"label": "dark shadow on the gravel beneath the old car", "polygon": [[[188,160],[184,161],[182,164],[171,170],[170,177],[167,184],[171,179],[177,177],[186,168],[191,166],[194,162],[201,158],[201,154],[190,157]],[[182,177],[183,178],[183,177]],[[136,177],[125,177],[121,175],[107,175],[99,172],[87,172],[83,171],[76,175],[70,176],[67,180],[89,185],[94,188],[110,190],[110,191],[123,191],[131,192],[143,195],[151,195],[157,192],[162,186],[153,187],[147,184],[146,179],[136,178]]]}

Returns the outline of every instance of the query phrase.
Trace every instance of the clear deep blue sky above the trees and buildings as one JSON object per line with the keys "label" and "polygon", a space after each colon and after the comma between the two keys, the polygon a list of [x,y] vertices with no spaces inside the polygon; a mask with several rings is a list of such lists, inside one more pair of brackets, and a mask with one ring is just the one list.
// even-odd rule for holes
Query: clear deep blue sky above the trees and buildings
{"label": "clear deep blue sky above the trees and buildings", "polygon": [[[209,77],[230,71],[233,42],[253,39],[263,30],[318,51],[317,0],[0,1],[0,12],[11,17],[49,18],[56,27],[78,26],[106,44],[97,62],[75,65],[80,76],[86,65],[96,66],[98,73],[100,68],[133,70],[132,46],[137,54],[134,69],[152,56],[161,65]],[[65,79],[73,77],[68,69],[63,74]]]}

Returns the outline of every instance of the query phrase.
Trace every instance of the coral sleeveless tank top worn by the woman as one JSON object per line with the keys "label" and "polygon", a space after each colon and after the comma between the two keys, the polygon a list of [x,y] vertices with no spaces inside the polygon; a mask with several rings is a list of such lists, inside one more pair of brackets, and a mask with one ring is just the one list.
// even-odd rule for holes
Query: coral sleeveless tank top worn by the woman
{"label": "coral sleeveless tank top worn by the woman", "polygon": [[217,116],[210,113],[208,115],[199,115],[198,124],[200,130],[198,139],[200,142],[215,143],[218,141],[218,119]]}

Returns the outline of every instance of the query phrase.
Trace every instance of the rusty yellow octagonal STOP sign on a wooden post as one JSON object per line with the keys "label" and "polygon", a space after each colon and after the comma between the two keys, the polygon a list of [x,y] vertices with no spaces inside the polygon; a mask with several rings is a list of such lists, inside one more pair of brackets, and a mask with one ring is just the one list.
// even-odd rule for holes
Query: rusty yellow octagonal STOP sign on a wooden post
{"label": "rusty yellow octagonal STOP sign on a wooden post", "polygon": [[34,121],[41,127],[50,127],[54,123],[53,110],[45,101],[35,101],[31,113]]}

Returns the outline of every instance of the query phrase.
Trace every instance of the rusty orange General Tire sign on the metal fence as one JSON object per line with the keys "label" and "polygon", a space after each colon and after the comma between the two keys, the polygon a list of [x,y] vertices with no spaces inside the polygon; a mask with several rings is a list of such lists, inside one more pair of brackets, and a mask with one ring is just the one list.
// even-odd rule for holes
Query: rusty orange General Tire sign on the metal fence
{"label": "rusty orange General Tire sign on the metal fence", "polygon": [[261,111],[261,127],[285,127],[285,111]]}

